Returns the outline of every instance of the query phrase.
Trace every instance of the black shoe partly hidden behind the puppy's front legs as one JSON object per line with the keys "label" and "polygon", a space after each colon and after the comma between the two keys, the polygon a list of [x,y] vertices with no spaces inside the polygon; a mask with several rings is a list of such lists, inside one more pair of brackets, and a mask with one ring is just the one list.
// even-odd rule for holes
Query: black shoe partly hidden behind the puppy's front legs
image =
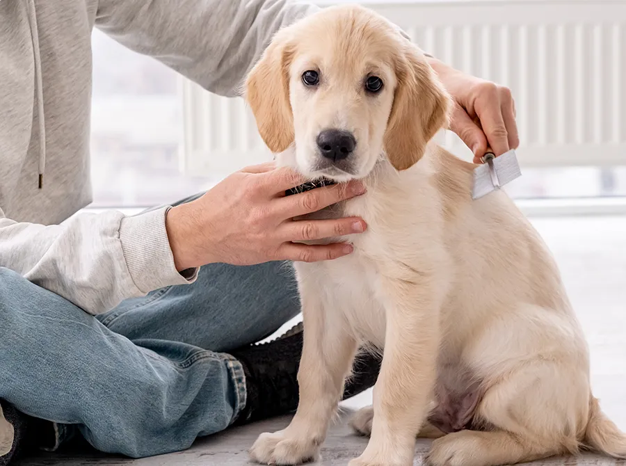
{"label": "black shoe partly hidden behind the puppy's front legs", "polygon": [[[231,353],[243,366],[248,393],[246,408],[236,424],[293,412],[298,408],[298,367],[303,346],[302,323],[272,342],[246,346]],[[346,380],[343,399],[373,387],[381,358],[358,355],[353,376]]]}

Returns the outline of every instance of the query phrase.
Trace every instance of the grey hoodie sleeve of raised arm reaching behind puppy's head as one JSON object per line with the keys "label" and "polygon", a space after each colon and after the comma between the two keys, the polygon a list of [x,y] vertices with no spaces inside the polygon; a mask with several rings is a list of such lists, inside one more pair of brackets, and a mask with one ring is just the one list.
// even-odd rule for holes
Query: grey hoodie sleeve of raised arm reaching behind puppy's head
{"label": "grey hoodie sleeve of raised arm reaching behind puppy's head", "polygon": [[95,24],[212,93],[233,97],[273,35],[317,10],[290,0],[99,0]]}

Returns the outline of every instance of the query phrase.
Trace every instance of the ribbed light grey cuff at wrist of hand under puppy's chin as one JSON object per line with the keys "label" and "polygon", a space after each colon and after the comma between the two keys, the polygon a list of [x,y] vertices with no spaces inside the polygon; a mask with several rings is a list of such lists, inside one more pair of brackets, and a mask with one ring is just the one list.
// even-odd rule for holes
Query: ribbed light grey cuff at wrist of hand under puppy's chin
{"label": "ribbed light grey cuff at wrist of hand under puppy's chin", "polygon": [[136,216],[122,218],[120,241],[128,271],[143,294],[175,284],[188,284],[198,278],[198,268],[178,272],[166,230],[162,207]]}

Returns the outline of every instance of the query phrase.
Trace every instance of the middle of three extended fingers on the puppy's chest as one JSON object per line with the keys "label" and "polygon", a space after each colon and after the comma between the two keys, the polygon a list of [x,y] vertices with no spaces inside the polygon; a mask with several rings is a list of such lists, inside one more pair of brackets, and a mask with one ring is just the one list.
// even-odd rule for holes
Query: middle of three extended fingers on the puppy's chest
{"label": "middle of three extended fingers on the puppy's chest", "polygon": [[332,220],[292,220],[281,227],[279,234],[285,241],[312,241],[362,233],[366,228],[366,223],[357,217]]}

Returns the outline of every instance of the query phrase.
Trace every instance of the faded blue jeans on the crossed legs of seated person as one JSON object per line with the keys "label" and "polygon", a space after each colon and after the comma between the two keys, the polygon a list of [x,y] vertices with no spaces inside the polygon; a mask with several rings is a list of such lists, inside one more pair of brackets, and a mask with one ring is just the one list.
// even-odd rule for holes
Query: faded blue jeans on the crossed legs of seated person
{"label": "faded blue jeans on the crossed legs of seated person", "polygon": [[282,263],[205,266],[192,285],[159,289],[91,316],[0,268],[0,398],[132,457],[186,449],[246,405],[228,355],[300,312]]}

